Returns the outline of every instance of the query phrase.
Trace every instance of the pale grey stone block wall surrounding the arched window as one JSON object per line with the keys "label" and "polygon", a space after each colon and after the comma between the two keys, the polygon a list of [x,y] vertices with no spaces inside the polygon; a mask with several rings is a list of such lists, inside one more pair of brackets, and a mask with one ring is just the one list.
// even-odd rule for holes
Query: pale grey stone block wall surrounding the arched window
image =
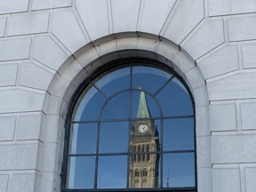
{"label": "pale grey stone block wall surrounding the arched window", "polygon": [[0,191],[60,191],[71,96],[140,56],[193,93],[198,192],[254,192],[255,23],[255,0],[1,0]]}

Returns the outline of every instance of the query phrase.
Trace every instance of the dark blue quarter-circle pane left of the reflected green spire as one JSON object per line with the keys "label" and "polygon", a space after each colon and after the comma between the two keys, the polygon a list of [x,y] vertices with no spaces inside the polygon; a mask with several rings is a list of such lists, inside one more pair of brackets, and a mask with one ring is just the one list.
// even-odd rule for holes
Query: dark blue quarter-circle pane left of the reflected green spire
{"label": "dark blue quarter-circle pane left of the reflected green spire", "polygon": [[102,111],[101,119],[128,118],[129,92],[121,92],[108,100]]}

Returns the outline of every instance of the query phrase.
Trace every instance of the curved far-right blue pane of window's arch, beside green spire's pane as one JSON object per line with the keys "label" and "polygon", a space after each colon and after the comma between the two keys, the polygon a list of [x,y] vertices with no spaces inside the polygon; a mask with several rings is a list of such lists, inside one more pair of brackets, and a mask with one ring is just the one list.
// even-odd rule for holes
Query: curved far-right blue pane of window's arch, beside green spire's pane
{"label": "curved far-right blue pane of window's arch, beside green spire's pane", "polygon": [[164,110],[164,116],[193,115],[193,104],[183,84],[176,78],[156,95]]}

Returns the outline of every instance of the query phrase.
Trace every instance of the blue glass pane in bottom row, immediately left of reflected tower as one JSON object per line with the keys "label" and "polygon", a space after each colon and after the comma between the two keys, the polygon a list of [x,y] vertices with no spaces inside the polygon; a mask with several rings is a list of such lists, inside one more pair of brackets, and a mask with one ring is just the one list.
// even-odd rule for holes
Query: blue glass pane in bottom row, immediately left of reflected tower
{"label": "blue glass pane in bottom row, immediately left of reflected tower", "polygon": [[100,156],[97,188],[126,188],[127,156]]}

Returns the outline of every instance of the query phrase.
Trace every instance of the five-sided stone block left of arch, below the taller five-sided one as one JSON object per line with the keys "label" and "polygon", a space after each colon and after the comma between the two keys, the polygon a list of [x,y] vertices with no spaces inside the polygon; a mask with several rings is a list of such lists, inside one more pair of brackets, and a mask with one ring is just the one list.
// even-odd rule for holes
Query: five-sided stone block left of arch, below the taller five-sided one
{"label": "five-sided stone block left of arch, below the taller five-sided one", "polygon": [[58,70],[68,55],[52,40],[51,36],[36,36],[33,59]]}

